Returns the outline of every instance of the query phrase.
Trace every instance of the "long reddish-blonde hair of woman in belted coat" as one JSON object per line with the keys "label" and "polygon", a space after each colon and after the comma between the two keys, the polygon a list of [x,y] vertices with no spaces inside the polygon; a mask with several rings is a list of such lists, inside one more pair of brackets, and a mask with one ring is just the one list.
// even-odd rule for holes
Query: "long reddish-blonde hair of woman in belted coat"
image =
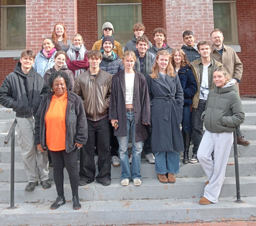
{"label": "long reddish-blonde hair of woman in belted coat", "polygon": [[175,77],[176,75],[174,74],[174,68],[172,67],[172,64],[171,64],[171,61],[170,61],[171,55],[166,50],[161,50],[161,51],[157,52],[157,55],[156,55],[156,58],[155,58],[155,63],[152,67],[152,73],[150,74],[150,77],[153,78],[153,79],[159,78],[159,75],[158,75],[159,66],[156,62],[158,60],[159,56],[168,56],[169,63],[168,63],[168,66],[165,69],[166,75],[168,75],[170,77]]}

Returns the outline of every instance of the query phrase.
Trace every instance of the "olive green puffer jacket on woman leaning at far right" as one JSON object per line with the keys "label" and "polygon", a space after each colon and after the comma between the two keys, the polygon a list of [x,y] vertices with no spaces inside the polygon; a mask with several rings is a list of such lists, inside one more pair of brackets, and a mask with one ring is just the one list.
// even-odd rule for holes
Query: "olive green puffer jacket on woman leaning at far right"
{"label": "olive green puffer jacket on woman leaning at far right", "polygon": [[211,133],[231,133],[244,122],[245,113],[234,83],[222,88],[215,86],[209,92],[201,119]]}

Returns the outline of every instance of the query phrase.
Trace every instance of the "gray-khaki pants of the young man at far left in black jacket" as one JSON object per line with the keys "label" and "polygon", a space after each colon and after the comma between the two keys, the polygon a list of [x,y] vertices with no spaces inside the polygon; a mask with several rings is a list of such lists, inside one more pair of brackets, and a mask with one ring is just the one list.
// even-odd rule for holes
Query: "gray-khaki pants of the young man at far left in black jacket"
{"label": "gray-khaki pants of the young man at far left in black jacket", "polygon": [[20,118],[17,119],[17,140],[21,148],[22,161],[28,182],[36,182],[48,179],[48,152],[41,152],[34,144],[35,119]]}

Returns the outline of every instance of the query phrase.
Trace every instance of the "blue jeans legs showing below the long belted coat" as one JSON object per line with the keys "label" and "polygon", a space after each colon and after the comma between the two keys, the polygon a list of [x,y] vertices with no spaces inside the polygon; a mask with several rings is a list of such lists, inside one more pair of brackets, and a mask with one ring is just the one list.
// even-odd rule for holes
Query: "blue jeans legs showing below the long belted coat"
{"label": "blue jeans legs showing below the long belted coat", "polygon": [[179,152],[155,152],[155,171],[162,175],[166,173],[179,173]]}

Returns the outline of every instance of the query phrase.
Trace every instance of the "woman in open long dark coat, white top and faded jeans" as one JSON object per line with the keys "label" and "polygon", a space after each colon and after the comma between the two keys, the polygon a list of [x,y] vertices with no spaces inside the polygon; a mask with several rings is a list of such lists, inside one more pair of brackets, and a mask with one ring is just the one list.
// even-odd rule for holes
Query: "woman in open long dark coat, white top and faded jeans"
{"label": "woman in open long dark coat, white top and faded jeans", "polygon": [[[124,70],[113,76],[109,119],[114,135],[119,142],[121,162],[121,184],[127,186],[133,180],[135,186],[141,185],[142,141],[148,137],[146,126],[150,126],[150,104],[146,79],[142,73],[133,70],[136,60],[133,51],[123,55]],[[118,123],[119,127],[116,127]],[[128,158],[129,134],[132,137],[132,172]]]}

